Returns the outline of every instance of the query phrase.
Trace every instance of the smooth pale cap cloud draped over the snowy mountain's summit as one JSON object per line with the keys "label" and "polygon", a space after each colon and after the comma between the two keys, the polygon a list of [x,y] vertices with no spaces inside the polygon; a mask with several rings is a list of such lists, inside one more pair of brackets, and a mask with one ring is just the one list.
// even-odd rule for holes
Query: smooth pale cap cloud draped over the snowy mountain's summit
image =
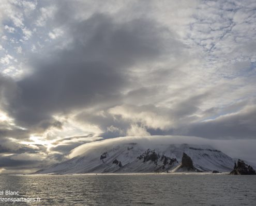
{"label": "smooth pale cap cloud draped over the snowy mountain's summit", "polygon": [[[248,142],[250,143],[250,146],[247,150],[245,147],[247,147]],[[113,148],[126,143],[138,143],[142,150],[154,148],[155,145],[199,144],[213,146],[214,148],[227,153],[227,155],[232,158],[240,158],[256,163],[253,155],[255,153],[253,149],[256,145],[256,140],[248,140],[248,142],[246,140],[209,140],[195,136],[126,136],[81,145],[71,151],[69,158],[83,155],[87,152],[93,153],[94,151],[100,150],[104,152],[106,148]],[[100,150],[97,150],[98,148],[100,148]]]}

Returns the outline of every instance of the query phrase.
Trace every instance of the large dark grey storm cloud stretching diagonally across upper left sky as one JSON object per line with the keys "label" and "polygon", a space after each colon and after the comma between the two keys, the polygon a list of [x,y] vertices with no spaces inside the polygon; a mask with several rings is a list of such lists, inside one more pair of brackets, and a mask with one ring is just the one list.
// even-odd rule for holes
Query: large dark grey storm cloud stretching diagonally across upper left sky
{"label": "large dark grey storm cloud stretching diagonally across upper left sky", "polygon": [[20,125],[61,127],[53,114],[121,101],[130,83],[128,66],[165,53],[164,29],[153,21],[121,24],[99,14],[67,27],[68,48],[37,58],[33,73],[17,82],[9,113]]}

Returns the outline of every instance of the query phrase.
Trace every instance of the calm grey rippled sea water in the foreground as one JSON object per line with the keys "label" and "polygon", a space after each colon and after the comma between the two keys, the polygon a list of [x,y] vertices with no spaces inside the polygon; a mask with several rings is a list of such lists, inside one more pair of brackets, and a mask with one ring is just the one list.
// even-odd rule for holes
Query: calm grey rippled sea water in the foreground
{"label": "calm grey rippled sea water in the foreground", "polygon": [[256,176],[0,176],[3,190],[19,195],[1,198],[41,198],[14,205],[256,205]]}

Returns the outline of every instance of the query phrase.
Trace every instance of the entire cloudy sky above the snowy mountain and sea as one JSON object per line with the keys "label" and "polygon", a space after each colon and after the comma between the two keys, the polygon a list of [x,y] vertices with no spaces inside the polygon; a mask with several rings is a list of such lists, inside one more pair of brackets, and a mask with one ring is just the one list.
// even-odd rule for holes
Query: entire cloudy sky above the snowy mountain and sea
{"label": "entire cloudy sky above the snowy mountain and sea", "polygon": [[0,173],[118,136],[256,162],[256,2],[2,0]]}

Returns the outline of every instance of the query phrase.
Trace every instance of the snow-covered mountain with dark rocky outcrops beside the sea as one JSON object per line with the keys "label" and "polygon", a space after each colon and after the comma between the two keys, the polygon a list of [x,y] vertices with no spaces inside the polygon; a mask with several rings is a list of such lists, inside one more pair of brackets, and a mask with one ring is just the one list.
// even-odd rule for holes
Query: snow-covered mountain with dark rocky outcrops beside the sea
{"label": "snow-covered mountain with dark rocky outcrops beside the sea", "polygon": [[36,174],[171,172],[180,165],[184,152],[202,171],[231,171],[234,166],[231,157],[208,145],[126,137],[87,143],[71,152],[71,157],[78,156]]}

